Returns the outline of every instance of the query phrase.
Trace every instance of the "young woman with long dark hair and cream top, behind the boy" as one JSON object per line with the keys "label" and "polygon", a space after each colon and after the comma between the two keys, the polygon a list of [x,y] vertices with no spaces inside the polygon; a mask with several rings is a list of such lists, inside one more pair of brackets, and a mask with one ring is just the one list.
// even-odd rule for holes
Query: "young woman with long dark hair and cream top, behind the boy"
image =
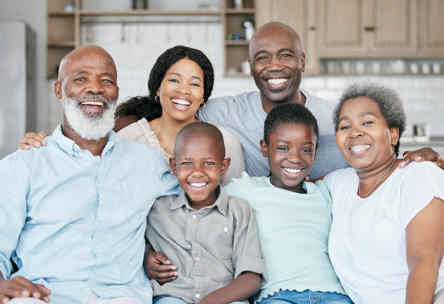
{"label": "young woman with long dark hair and cream top, behind the boy", "polygon": [[[182,127],[199,121],[194,116],[211,95],[214,71],[210,60],[191,47],[175,46],[156,60],[148,80],[150,95],[137,96],[121,103],[116,110],[117,134],[134,142],[142,142],[158,150],[169,165],[174,142]],[[222,132],[230,167],[221,178],[239,178],[246,171],[242,146],[236,136],[218,126]],[[198,144],[199,134],[196,134]]]}

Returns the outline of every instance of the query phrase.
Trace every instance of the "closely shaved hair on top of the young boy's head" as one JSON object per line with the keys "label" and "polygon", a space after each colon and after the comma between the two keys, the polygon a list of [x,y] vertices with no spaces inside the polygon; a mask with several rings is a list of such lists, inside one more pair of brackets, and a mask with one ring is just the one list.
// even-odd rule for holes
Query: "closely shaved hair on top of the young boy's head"
{"label": "closely shaved hair on top of the young boy's head", "polygon": [[206,145],[214,148],[225,158],[225,143],[221,131],[208,122],[191,122],[184,126],[176,137],[174,144],[174,158],[178,157],[178,152],[182,150],[184,139],[194,138],[196,145]]}

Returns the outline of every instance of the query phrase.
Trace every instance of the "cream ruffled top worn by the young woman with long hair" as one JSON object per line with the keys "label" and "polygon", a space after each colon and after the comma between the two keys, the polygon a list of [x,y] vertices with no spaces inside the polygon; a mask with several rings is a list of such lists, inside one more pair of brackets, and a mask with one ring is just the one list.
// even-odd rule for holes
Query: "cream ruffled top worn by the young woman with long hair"
{"label": "cream ruffled top worn by the young woman with long hair", "polygon": [[[225,157],[229,157],[231,159],[230,166],[228,167],[226,174],[220,180],[221,185],[225,186],[230,181],[230,178],[241,177],[241,173],[246,171],[246,163],[242,146],[238,138],[222,126],[218,126],[218,129],[221,131],[225,142]],[[165,162],[168,167],[170,167],[170,157],[172,156],[166,153],[166,151],[160,146],[160,142],[157,139],[156,134],[151,131],[150,124],[147,122],[146,118],[142,118],[138,122],[134,122],[131,125],[124,127],[122,130],[117,132],[117,135],[124,140],[141,142],[155,150],[158,150],[160,154],[162,154],[163,158],[165,158]],[[173,173],[171,172],[171,174]]]}

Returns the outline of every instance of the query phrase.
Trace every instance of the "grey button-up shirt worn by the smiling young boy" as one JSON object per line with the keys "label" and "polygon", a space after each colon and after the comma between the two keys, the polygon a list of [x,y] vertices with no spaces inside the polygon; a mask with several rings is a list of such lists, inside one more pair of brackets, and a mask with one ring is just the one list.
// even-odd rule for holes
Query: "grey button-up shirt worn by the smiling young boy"
{"label": "grey button-up shirt worn by the smiling young boy", "polygon": [[[262,274],[261,286],[265,284],[264,256],[250,204],[228,196],[220,186],[216,191],[215,203],[200,210],[190,207],[183,191],[155,201],[148,214],[147,246],[165,254],[178,277],[162,286],[151,280],[153,296],[199,303],[244,271]],[[227,288],[244,292],[235,285]]]}

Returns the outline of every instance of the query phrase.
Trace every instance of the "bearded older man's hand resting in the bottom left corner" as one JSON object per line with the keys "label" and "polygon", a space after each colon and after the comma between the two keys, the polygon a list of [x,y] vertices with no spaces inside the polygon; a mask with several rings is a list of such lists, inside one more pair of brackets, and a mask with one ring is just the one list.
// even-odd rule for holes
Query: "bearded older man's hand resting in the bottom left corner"
{"label": "bearded older man's hand resting in the bottom left corner", "polygon": [[0,303],[7,303],[13,298],[33,297],[49,303],[51,291],[42,284],[34,284],[23,276],[4,280],[0,279]]}

